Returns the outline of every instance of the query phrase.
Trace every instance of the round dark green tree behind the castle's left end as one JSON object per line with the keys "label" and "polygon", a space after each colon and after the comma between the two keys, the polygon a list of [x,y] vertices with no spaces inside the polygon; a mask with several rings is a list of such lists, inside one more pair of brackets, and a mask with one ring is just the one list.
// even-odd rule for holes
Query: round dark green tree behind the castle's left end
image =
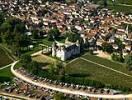
{"label": "round dark green tree behind the castle's left end", "polygon": [[60,32],[57,28],[53,28],[48,32],[48,40],[57,39],[60,36]]}

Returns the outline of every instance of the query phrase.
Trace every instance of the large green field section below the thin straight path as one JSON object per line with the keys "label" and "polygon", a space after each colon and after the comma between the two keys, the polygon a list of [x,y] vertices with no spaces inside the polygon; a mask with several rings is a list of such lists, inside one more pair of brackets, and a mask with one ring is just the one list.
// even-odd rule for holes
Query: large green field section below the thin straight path
{"label": "large green field section below the thin straight path", "polygon": [[[77,59],[66,66],[66,74],[78,74],[85,76],[87,79],[99,81],[105,85],[122,86],[131,88],[132,78],[113,72],[109,69],[102,68],[96,64]],[[81,75],[82,74],[82,75]],[[84,77],[82,77],[84,78]]]}

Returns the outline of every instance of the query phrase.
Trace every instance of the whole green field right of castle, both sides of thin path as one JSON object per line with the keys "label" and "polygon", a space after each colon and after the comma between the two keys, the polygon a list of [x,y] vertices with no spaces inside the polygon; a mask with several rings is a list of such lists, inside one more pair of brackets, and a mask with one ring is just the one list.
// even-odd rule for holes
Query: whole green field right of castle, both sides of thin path
{"label": "whole green field right of castle, both sides of thin path", "polygon": [[[86,55],[84,56],[84,58],[132,75],[132,73],[128,72],[121,64],[104,60],[93,55]],[[66,73],[88,75],[85,76],[85,78],[99,81],[108,86],[113,85],[128,88],[132,87],[132,77],[127,77],[125,75],[103,68],[91,62],[87,62],[80,58],[67,65]]]}

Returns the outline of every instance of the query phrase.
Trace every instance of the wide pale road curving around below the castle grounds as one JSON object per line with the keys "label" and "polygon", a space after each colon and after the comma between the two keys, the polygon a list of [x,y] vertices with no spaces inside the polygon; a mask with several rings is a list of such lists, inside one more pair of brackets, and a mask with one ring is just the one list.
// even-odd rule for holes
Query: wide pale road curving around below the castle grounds
{"label": "wide pale road curving around below the castle grounds", "polygon": [[104,99],[130,99],[132,100],[132,95],[124,95],[124,94],[120,94],[120,95],[100,95],[100,94],[89,94],[89,93],[86,93],[86,92],[83,92],[83,91],[78,91],[78,90],[70,90],[70,89],[67,89],[67,88],[58,88],[58,87],[55,87],[55,86],[51,86],[51,85],[47,85],[47,84],[44,84],[44,83],[40,83],[40,82],[35,82],[33,80],[31,80],[30,78],[24,76],[24,75],[21,75],[20,73],[18,73],[17,71],[14,70],[14,66],[15,64],[17,63],[18,61],[14,62],[11,66],[11,72],[18,78],[30,83],[30,84],[33,84],[33,85],[36,85],[36,86],[39,86],[39,87],[44,87],[44,88],[48,88],[48,89],[52,89],[54,91],[58,91],[58,92],[62,92],[62,93],[67,93],[67,94],[73,94],[73,95],[82,95],[82,96],[88,96],[88,97],[95,97],[95,98],[104,98]]}

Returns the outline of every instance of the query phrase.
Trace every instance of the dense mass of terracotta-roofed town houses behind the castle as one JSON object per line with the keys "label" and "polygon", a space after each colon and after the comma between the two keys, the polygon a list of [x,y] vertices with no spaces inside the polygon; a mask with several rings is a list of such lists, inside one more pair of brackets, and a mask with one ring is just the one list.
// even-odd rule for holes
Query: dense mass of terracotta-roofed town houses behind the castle
{"label": "dense mass of terracotta-roofed town houses behind the castle", "polygon": [[[0,5],[0,9],[7,12],[8,16],[21,19],[28,31],[34,29],[44,31],[46,36],[53,27],[58,28],[61,35],[66,31],[75,30],[83,37],[85,43],[89,43],[91,49],[108,42],[118,50],[115,39],[119,38],[125,45],[123,54],[132,50],[132,31],[129,27],[132,25],[131,14],[125,15],[122,12],[114,14],[108,9],[98,9],[98,5],[90,2],[82,7],[59,2],[42,3],[41,0],[36,3],[32,0],[27,3],[18,0],[1,1]],[[111,28],[117,31],[114,32]]]}

